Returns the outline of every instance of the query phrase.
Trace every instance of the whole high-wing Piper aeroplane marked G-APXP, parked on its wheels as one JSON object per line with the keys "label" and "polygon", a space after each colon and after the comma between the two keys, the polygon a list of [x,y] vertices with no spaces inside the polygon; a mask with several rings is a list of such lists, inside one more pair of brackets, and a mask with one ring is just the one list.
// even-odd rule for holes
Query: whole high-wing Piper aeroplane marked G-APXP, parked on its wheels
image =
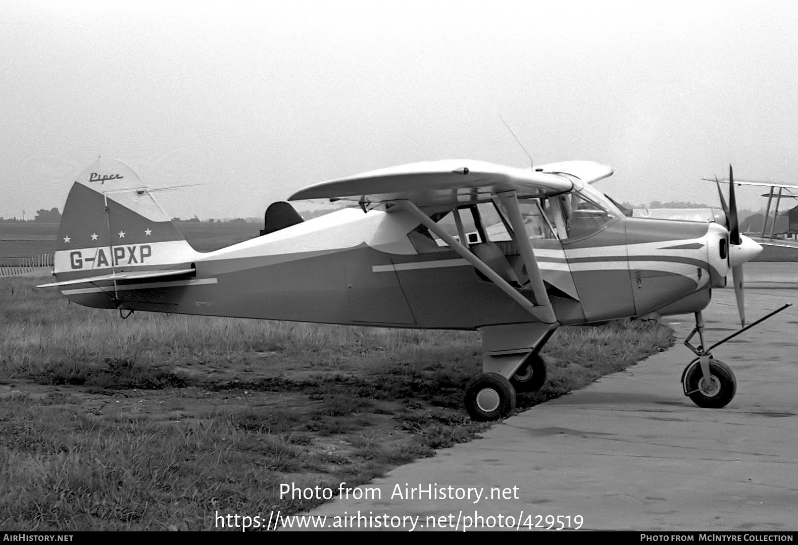
{"label": "whole high-wing Piper aeroplane marked G-APXP, parked on its wheels", "polygon": [[693,312],[701,345],[685,394],[725,406],[736,380],[705,349],[701,311],[761,247],[736,224],[626,218],[590,185],[610,174],[587,161],[386,168],[289,198],[359,206],[302,222],[277,202],[262,236],[200,253],[130,168],[99,159],[69,192],[56,281],[43,287],[120,313],[476,329],[483,372],[465,391],[476,420],[507,416],[516,392],[543,385],[539,351],[557,327]]}

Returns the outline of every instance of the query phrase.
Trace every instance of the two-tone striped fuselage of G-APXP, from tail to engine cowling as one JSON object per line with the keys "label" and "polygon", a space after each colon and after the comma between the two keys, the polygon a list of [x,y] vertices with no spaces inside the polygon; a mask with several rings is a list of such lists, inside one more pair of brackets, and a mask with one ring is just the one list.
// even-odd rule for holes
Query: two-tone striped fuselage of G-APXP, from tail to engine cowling
{"label": "two-tone striped fuselage of G-APXP, from tail to engine cowling", "polygon": [[[533,320],[451,249],[419,253],[408,237],[414,227],[401,211],[346,209],[211,253],[155,241],[71,249],[57,258],[76,275],[104,259],[120,269],[134,259],[136,270],[175,261],[196,266],[157,288],[117,281],[120,306],[132,310],[450,329]],[[723,237],[712,224],[622,218],[574,241],[533,245],[544,280],[571,276],[570,296],[550,290],[559,322],[569,324],[639,316],[704,291],[680,309],[701,310],[711,279],[725,276],[711,255]],[[116,306],[111,281],[61,289],[79,304]]]}

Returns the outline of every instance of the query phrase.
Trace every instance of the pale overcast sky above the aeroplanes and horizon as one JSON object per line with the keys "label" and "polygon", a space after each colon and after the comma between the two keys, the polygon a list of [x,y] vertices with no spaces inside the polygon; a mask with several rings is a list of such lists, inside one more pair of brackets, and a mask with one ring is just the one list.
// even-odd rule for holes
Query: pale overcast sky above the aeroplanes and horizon
{"label": "pale overcast sky above the aeroplanes and horizon", "polygon": [[[283,2],[288,4],[289,2]],[[389,6],[389,7],[386,7]],[[591,159],[619,202],[798,182],[796,2],[2,2],[0,216],[98,155],[168,214],[424,159]],[[752,188],[742,205],[758,206]]]}

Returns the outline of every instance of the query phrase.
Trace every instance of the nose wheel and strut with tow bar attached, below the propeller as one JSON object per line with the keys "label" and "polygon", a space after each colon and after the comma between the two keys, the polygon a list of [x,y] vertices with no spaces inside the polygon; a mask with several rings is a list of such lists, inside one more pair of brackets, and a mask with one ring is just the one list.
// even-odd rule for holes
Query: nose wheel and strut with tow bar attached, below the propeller
{"label": "nose wheel and strut with tow bar attached, below the propeller", "polygon": [[[719,359],[713,358],[711,350],[789,306],[790,304],[785,304],[783,307],[764,316],[764,318],[760,318],[756,322],[743,327],[740,331],[714,343],[709,348],[705,348],[704,317],[701,316],[701,312],[696,312],[696,327],[693,327],[693,331],[685,339],[685,347],[688,347],[698,357],[693,359],[681,374],[681,386],[685,389],[685,395],[693,400],[693,403],[697,406],[707,409],[721,409],[721,407],[729,405],[729,402],[734,398],[734,394],[737,393],[737,378],[735,378],[728,365]],[[690,340],[693,339],[696,333],[700,344],[697,347],[693,347],[690,344]]]}

